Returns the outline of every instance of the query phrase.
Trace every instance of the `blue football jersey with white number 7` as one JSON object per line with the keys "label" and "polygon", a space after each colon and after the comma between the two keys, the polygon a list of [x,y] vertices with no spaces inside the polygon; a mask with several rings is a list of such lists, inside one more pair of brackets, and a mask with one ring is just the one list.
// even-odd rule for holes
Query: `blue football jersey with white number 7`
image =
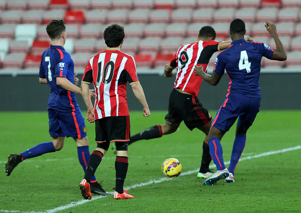
{"label": "blue football jersey with white number 7", "polygon": [[51,88],[48,109],[62,112],[80,110],[76,94],[56,84],[56,77],[65,77],[74,84],[74,63],[70,54],[61,46],[51,45],[42,55],[40,78],[46,78]]}

